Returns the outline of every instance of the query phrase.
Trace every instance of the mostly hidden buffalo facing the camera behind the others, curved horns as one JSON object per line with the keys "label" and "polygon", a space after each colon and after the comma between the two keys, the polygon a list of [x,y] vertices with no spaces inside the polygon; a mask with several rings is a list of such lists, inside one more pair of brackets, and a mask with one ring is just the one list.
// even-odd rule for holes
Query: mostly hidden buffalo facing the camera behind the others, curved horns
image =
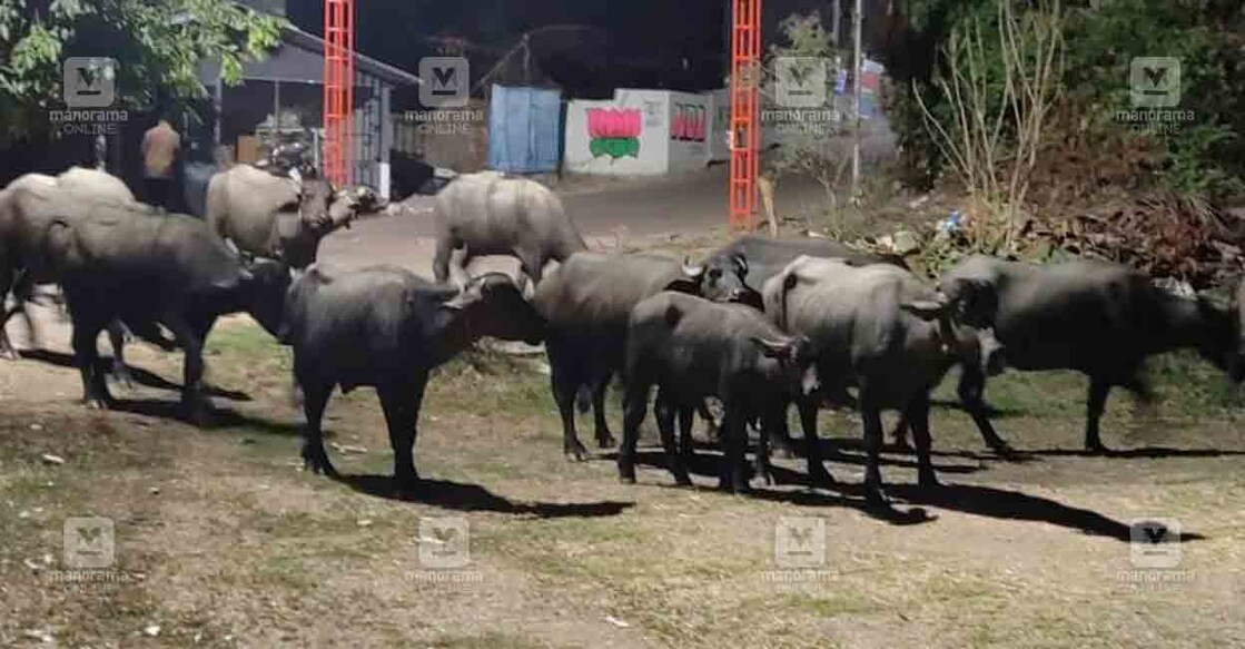
{"label": "mostly hidden buffalo facing the camera behind the others, curved horns", "polygon": [[[745,234],[705,260],[705,296],[740,301],[749,287],[759,290],[769,278],[802,255],[845,259],[852,265],[891,264],[908,268],[898,255],[862,252],[832,239],[771,239],[759,234]],[[753,305],[761,308],[761,304]]]}

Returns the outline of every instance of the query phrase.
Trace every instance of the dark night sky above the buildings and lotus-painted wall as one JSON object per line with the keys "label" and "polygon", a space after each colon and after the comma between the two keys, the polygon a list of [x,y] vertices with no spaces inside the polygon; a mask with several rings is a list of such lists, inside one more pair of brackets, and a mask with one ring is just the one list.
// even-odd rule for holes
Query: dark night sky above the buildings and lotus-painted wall
{"label": "dark night sky above the buildings and lotus-painted wall", "polygon": [[[842,4],[847,10],[852,2]],[[865,5],[872,44],[884,31],[893,2]],[[299,27],[322,34],[322,0],[288,0],[286,15]],[[610,97],[616,87],[702,91],[722,87],[727,72],[726,0],[356,0],[355,6],[357,50],[412,72],[442,44],[461,42],[473,78],[479,78],[525,31],[548,25],[589,27],[549,30],[532,39],[533,81],[557,83],[571,97]],[[766,41],[774,42],[778,21],[793,12],[818,10],[829,27],[832,6],[824,0],[767,0]],[[844,16],[844,34],[848,29]],[[520,60],[510,60],[502,81],[524,81],[514,77],[522,75]]]}

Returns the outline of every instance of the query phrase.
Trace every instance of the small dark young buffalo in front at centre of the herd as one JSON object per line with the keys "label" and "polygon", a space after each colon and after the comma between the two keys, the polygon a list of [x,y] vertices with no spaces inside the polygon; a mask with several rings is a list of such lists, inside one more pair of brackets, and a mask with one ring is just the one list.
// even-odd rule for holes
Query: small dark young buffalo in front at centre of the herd
{"label": "small dark young buffalo in front at centre of the herd", "polygon": [[[659,293],[635,306],[629,320],[626,359],[624,438],[618,461],[619,477],[625,482],[635,482],[640,422],[654,385],[657,429],[670,471],[680,485],[691,485],[691,478],[682,462],[682,452],[688,450],[686,436],[682,452],[675,446],[676,414],[686,419],[691,409],[711,396],[722,402],[723,458],[718,487],[731,492],[748,488],[747,422],[759,419],[772,424],[783,404],[819,389],[815,355],[807,338],[783,334],[751,306],[684,293]],[[763,433],[761,438],[758,460],[764,456]],[[824,472],[815,450],[808,462],[809,471]]]}

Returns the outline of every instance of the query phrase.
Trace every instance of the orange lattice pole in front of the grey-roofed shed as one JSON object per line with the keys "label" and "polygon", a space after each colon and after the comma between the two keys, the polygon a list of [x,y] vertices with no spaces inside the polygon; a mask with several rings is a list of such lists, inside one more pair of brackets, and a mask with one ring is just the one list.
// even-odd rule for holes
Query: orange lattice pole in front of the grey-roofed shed
{"label": "orange lattice pole in front of the grey-roofed shed", "polygon": [[355,0],[324,0],[324,174],[350,184],[355,147]]}

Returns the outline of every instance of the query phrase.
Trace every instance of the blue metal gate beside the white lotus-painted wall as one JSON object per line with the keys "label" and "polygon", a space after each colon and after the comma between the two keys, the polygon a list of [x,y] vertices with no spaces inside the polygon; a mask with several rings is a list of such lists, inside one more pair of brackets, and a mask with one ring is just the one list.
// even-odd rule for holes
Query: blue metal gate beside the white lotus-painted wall
{"label": "blue metal gate beside the white lotus-painted wall", "polygon": [[561,93],[493,86],[488,118],[488,166],[507,173],[558,171]]}

